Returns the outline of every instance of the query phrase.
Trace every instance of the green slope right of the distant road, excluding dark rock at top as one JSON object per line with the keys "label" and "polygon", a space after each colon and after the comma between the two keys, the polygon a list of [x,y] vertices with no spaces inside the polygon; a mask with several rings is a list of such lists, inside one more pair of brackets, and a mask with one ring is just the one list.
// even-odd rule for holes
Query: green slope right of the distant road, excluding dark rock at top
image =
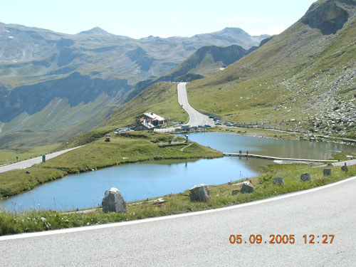
{"label": "green slope right of the distant road, excluding dark rock at top", "polygon": [[190,83],[189,102],[234,122],[323,117],[340,102],[355,105],[355,28],[353,19],[323,36],[298,21],[221,73]]}

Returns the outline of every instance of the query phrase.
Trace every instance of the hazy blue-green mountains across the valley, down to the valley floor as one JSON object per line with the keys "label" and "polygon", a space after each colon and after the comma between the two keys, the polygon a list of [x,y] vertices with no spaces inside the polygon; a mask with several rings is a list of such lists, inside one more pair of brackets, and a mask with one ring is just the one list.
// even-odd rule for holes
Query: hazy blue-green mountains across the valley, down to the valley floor
{"label": "hazy blue-green mountains across the valley, down to the valley floor", "polygon": [[249,47],[264,37],[229,28],[137,40],[98,27],[69,35],[0,23],[0,135],[85,132],[147,88],[145,79],[164,75],[198,48]]}

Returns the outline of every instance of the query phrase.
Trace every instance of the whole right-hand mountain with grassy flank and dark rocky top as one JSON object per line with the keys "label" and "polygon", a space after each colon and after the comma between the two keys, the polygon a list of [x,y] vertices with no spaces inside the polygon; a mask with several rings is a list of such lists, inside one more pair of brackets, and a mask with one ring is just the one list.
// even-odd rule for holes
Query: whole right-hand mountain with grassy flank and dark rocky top
{"label": "whole right-hand mountain with grassy flank and dark rocky top", "polygon": [[356,1],[317,1],[256,51],[189,83],[189,102],[234,122],[309,117],[289,127],[356,137],[355,39]]}

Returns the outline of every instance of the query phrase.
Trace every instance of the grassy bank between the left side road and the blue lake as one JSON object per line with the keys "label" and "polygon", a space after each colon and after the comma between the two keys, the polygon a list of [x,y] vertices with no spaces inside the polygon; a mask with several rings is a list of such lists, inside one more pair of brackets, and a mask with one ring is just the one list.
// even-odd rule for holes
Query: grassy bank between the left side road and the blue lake
{"label": "grassy bank between the left side road and the blue lake", "polygon": [[[100,135],[100,132],[98,132],[98,135]],[[0,197],[19,194],[43,182],[61,178],[66,174],[87,172],[91,169],[152,159],[222,157],[221,152],[194,142],[184,151],[180,151],[180,149],[185,147],[186,144],[174,147],[159,147],[159,144],[167,144],[173,137],[170,134],[142,131],[122,133],[120,137],[113,136],[111,142],[104,142],[104,137],[100,138],[100,140],[90,142],[85,147],[26,169],[30,174],[26,174],[23,169],[0,173]],[[93,137],[88,135],[87,138],[89,141]],[[152,140],[157,140],[157,143],[151,142]],[[176,140],[176,142],[182,141],[184,141],[182,137],[178,137]]]}

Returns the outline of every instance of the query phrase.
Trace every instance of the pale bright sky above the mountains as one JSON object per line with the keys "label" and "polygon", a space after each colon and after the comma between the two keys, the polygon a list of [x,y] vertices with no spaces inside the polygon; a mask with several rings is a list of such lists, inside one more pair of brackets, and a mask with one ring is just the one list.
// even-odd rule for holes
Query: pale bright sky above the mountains
{"label": "pale bright sky above the mountains", "polygon": [[242,28],[277,34],[315,0],[0,0],[0,22],[75,34],[100,27],[121,36],[194,36]]}

